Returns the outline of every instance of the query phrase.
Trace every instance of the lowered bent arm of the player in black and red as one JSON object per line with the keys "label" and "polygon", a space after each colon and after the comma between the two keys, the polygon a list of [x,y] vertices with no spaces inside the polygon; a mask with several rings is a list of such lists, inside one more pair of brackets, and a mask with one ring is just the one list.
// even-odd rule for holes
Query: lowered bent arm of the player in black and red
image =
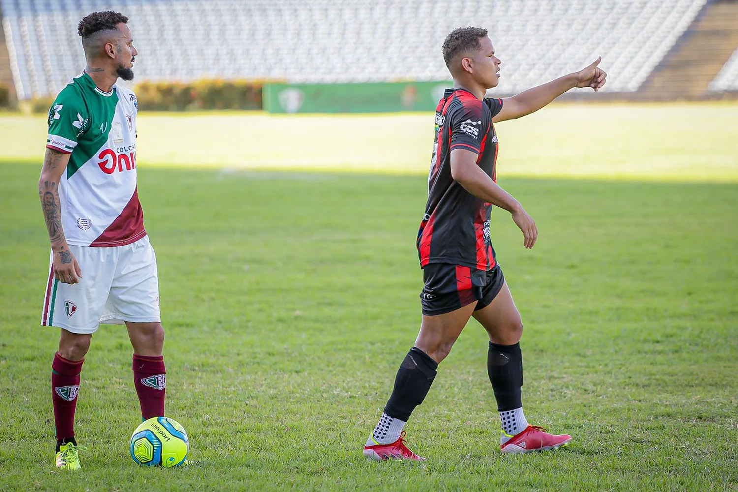
{"label": "lowered bent arm of the player in black and red", "polygon": [[477,198],[510,212],[512,220],[523,232],[523,246],[533,248],[538,238],[536,223],[520,202],[492,181],[477,165],[477,153],[461,148],[451,150],[451,177]]}

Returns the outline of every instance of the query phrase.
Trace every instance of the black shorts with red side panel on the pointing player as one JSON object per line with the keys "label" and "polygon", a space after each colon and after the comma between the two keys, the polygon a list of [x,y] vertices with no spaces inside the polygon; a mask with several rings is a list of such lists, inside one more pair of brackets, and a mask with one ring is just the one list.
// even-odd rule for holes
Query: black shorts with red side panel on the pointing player
{"label": "black shorts with red side panel on the pointing player", "polygon": [[420,294],[423,314],[437,316],[477,302],[475,311],[486,308],[500,294],[505,276],[499,265],[477,270],[450,263],[429,263],[423,268]]}

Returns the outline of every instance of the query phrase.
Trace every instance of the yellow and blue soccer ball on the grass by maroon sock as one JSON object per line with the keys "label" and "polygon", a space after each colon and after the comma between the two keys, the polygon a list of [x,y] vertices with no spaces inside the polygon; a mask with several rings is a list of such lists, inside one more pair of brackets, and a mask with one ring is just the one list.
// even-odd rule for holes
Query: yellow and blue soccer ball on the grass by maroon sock
{"label": "yellow and blue soccer ball on the grass by maroon sock", "polygon": [[169,417],[144,420],[131,436],[131,457],[139,465],[171,468],[182,465],[190,439],[182,424]]}

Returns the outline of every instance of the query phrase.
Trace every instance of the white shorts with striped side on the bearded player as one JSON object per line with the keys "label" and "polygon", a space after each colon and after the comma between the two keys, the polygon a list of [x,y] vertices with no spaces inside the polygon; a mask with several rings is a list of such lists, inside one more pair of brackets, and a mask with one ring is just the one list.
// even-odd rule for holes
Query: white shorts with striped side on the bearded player
{"label": "white shorts with striped side on the bearded player", "polygon": [[161,321],[159,271],[148,235],[125,246],[69,250],[80,265],[80,283],[55,279],[52,255],[41,325],[94,333],[100,323]]}

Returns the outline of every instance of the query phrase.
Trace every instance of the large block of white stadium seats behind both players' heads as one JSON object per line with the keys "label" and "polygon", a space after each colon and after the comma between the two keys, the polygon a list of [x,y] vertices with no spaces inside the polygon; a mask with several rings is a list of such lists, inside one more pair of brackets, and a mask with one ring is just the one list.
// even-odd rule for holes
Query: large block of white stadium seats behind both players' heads
{"label": "large block of white stadium seats behind both players' heads", "polygon": [[598,55],[607,91],[635,91],[705,2],[0,0],[0,7],[18,98],[28,99],[54,94],[84,68],[77,22],[94,10],[131,18],[142,80],[446,80],[444,37],[481,25],[503,60],[498,93],[511,94]]}

